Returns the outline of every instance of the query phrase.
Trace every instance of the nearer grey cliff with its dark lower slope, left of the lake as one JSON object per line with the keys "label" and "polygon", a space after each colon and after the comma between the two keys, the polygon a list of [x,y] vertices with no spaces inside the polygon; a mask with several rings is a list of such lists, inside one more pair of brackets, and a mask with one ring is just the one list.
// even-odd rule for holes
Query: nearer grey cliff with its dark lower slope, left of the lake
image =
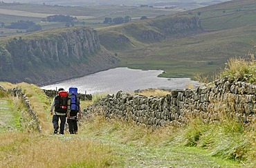
{"label": "nearer grey cliff with its dark lower slope, left of the lake", "polygon": [[14,38],[0,48],[0,80],[48,84],[103,71],[118,59],[101,48],[91,28],[71,28]]}

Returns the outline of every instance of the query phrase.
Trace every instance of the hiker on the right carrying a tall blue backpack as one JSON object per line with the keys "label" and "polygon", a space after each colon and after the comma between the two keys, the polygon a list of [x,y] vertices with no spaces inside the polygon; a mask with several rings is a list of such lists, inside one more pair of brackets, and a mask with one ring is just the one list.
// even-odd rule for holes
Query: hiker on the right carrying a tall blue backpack
{"label": "hiker on the right carrying a tall blue backpack", "polygon": [[68,89],[68,113],[67,113],[67,122],[69,133],[77,134],[77,113],[79,118],[82,117],[81,106],[79,98],[77,97],[77,88],[71,87]]}

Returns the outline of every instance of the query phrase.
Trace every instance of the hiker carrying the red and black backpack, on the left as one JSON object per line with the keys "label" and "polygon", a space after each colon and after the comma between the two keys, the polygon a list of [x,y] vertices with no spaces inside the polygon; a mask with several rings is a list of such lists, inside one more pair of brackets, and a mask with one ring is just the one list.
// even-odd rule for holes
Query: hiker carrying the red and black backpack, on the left
{"label": "hiker carrying the red and black backpack, on the left", "polygon": [[[53,107],[54,107],[54,113],[53,113]],[[51,115],[53,115],[54,133],[57,133],[59,129],[59,120],[60,120],[60,134],[64,134],[67,108],[68,108],[68,92],[64,91],[64,88],[59,88],[58,94],[53,98],[53,102],[51,104]]]}

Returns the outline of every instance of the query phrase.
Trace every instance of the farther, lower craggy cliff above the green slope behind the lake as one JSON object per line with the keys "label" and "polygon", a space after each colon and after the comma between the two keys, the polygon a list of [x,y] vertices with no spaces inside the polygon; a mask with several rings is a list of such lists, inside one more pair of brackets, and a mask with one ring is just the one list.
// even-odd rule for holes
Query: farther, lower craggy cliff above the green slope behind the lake
{"label": "farther, lower craggy cliff above the green slope behind the lake", "polygon": [[[122,31],[120,31],[122,30]],[[128,23],[122,27],[111,28],[111,35],[104,29],[100,31],[100,44],[108,50],[123,50],[138,43],[154,43],[167,37],[182,37],[201,32],[199,17],[193,15],[162,16]],[[120,45],[120,37],[126,39]],[[118,47],[117,47],[118,46]]]}

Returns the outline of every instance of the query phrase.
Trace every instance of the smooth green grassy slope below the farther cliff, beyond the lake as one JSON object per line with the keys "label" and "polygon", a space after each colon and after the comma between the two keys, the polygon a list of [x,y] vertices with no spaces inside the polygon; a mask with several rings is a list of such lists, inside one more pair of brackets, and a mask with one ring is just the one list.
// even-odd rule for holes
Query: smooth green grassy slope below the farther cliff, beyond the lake
{"label": "smooth green grassy slope below the farther cliff, beyond the lake", "polygon": [[[255,52],[255,26],[205,32],[192,37],[166,39],[141,48],[114,50],[120,66],[162,69],[163,77],[194,77],[219,72],[230,57],[244,57]],[[132,42],[135,44],[134,42]],[[145,44],[144,44],[145,45]]]}

